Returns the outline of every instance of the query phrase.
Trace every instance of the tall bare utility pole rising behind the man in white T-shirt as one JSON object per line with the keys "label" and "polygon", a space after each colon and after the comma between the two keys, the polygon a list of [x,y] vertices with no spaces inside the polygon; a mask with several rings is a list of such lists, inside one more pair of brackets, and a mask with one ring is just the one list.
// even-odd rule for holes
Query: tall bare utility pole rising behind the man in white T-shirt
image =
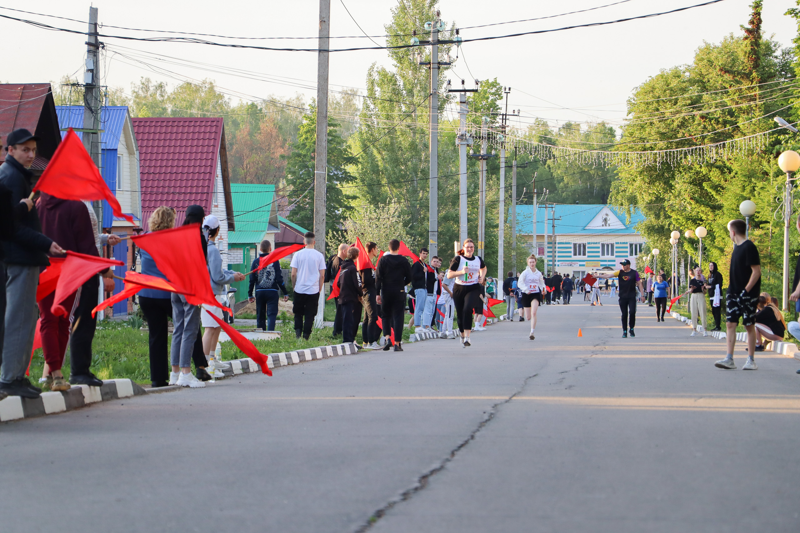
{"label": "tall bare utility pole rising behind the man in white T-shirt", "polygon": [[[314,149],[314,236],[316,249],[325,255],[325,204],[328,177],[328,54],[330,47],[330,0],[319,0],[319,49],[317,55],[317,141]],[[319,295],[314,328],[322,328],[325,291]]]}

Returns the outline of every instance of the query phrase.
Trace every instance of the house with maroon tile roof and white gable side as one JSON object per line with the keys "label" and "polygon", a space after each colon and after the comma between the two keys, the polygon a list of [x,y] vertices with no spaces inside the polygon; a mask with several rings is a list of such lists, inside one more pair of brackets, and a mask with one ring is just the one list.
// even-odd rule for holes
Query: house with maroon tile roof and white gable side
{"label": "house with maroon tile roof and white gable side", "polygon": [[217,247],[228,255],[228,232],[234,231],[225,127],[222,118],[134,118],[139,146],[142,228],[161,205],[175,209],[181,225],[189,205],[201,205],[219,219]]}

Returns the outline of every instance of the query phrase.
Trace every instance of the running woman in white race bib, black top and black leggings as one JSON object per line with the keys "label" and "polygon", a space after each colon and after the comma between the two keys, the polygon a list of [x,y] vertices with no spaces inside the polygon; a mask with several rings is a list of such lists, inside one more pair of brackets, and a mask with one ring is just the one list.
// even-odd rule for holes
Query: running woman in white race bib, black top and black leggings
{"label": "running woman in white race bib, black top and black leggings", "polygon": [[455,279],[453,287],[453,300],[455,303],[458,331],[461,332],[462,344],[470,346],[470,332],[472,332],[472,315],[483,312],[481,300],[481,282],[486,277],[486,265],[483,259],[474,255],[475,244],[472,239],[464,241],[464,248],[458,251],[458,256],[450,261],[447,271],[448,279]]}

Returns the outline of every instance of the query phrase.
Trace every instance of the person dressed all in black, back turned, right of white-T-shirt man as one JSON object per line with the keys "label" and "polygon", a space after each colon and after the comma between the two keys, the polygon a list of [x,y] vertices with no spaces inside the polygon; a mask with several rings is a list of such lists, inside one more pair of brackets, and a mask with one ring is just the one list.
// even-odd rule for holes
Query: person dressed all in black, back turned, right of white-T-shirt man
{"label": "person dressed all in black, back turned, right of white-T-shirt man", "polygon": [[386,344],[391,346],[390,334],[394,329],[395,352],[402,352],[403,314],[406,311],[406,285],[411,281],[411,265],[398,251],[400,241],[389,241],[389,253],[384,253],[375,268],[375,290],[378,292],[378,305],[383,314],[383,335]]}

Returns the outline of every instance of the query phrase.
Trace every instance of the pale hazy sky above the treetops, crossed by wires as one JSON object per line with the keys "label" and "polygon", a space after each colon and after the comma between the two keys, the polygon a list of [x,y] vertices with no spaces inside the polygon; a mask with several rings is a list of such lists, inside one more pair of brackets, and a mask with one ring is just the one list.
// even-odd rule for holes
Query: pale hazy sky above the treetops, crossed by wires
{"label": "pale hazy sky above the treetops, crossed by wires", "polygon": [[[454,22],[462,28],[465,39],[514,34],[534,30],[550,30],[590,22],[613,21],[660,11],[692,6],[706,0],[574,0],[562,2],[542,0],[441,0],[442,19],[449,27]],[[391,9],[398,2],[410,0],[330,0],[331,36],[370,36],[385,33]],[[579,14],[554,18],[574,10],[586,10],[618,2]],[[607,26],[575,28],[545,34],[525,35],[488,41],[466,42],[461,47],[450,78],[467,85],[474,78],[497,78],[510,86],[510,109],[522,109],[518,125],[542,117],[551,124],[563,121],[608,121],[622,124],[626,115],[625,101],[636,86],[659,70],[690,63],[695,50],[703,42],[719,42],[727,34],[741,34],[750,14],[748,0],[722,0],[710,6],[696,7],[659,17],[620,22]],[[774,38],[782,46],[790,46],[797,33],[794,20],[786,17],[793,0],[765,0],[762,30],[766,38]],[[222,39],[256,46],[291,46],[316,48],[318,0],[292,2],[218,2],[196,0],[38,0],[27,4],[6,4],[5,7],[26,9],[38,14],[88,20],[89,6],[99,10],[99,21],[106,25],[101,33],[147,36],[162,35],[119,30],[108,26],[126,26],[146,30],[169,30],[218,34],[259,39]],[[406,4],[407,5],[407,4]],[[190,7],[187,7],[190,6]],[[348,13],[349,11],[349,13]],[[86,24],[38,14],[24,14],[0,9],[0,15],[27,18],[51,26],[86,30]],[[497,22],[540,18],[470,28]],[[12,54],[6,55],[0,79],[4,82],[58,82],[62,76],[82,78],[86,58],[85,35],[42,30],[28,24],[0,18],[0,34],[6,43],[14,43]],[[264,39],[302,37],[306,39]],[[123,41],[102,38],[106,61],[102,77],[108,86],[121,87],[130,93],[131,82],[142,76],[176,85],[184,79],[214,80],[234,101],[241,97],[258,101],[270,95],[291,97],[301,93],[310,100],[316,94],[317,54],[223,48],[194,43]],[[383,45],[382,38],[374,41]],[[13,54],[14,47],[24,54]],[[374,46],[367,38],[338,38],[331,47]],[[161,54],[161,55],[153,55]],[[170,56],[165,58],[164,56]],[[180,65],[175,62],[178,58]],[[188,66],[186,62],[195,62]],[[150,66],[144,64],[147,63]],[[198,65],[203,63],[204,65]],[[384,50],[359,50],[330,54],[330,89],[343,87],[362,89],[370,65],[391,67]],[[153,70],[151,66],[166,68]],[[421,69],[424,67],[420,67]],[[230,70],[247,71],[245,77]],[[257,74],[252,74],[257,73]],[[512,124],[514,122],[512,121]]]}

